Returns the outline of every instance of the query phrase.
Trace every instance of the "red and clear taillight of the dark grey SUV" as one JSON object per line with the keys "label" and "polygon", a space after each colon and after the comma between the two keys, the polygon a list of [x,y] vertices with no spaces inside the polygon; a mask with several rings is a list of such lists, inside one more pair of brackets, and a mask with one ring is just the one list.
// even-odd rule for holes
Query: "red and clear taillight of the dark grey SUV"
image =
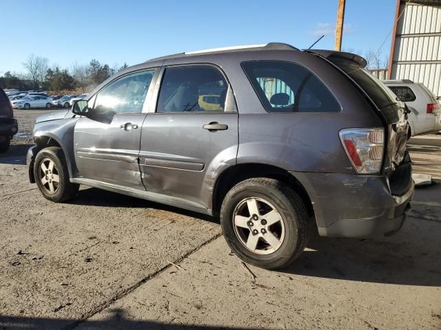
{"label": "red and clear taillight of the dark grey SUV", "polygon": [[358,173],[380,172],[384,151],[384,129],[342,129],[340,140],[353,168]]}

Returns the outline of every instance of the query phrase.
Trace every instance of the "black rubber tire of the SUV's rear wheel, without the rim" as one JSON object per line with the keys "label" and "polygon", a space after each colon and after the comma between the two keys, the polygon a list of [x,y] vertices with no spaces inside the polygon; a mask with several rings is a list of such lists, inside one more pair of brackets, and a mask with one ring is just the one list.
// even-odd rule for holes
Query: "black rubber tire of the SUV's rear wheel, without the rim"
{"label": "black rubber tire of the SUV's rear wheel, without the rim", "polygon": [[[274,252],[269,254],[258,254],[246,248],[244,243],[240,241],[240,234],[236,233],[238,227],[236,227],[235,230],[234,214],[236,207],[241,205],[240,203],[243,203],[245,199],[251,198],[271,203],[283,221],[283,224],[280,223],[280,225],[285,226],[284,239],[282,240],[282,236],[279,237],[282,243]],[[265,203],[263,205],[265,206]],[[249,212],[248,216],[252,217],[250,213],[251,212]],[[263,215],[260,216],[260,214]],[[259,217],[265,217],[265,212],[260,212],[260,214]],[[246,217],[247,216],[245,216],[245,218]],[[247,223],[252,222],[252,218],[249,220]],[[303,250],[305,250],[309,237],[308,214],[302,199],[283,182],[268,178],[247,179],[236,184],[236,186],[229,190],[220,208],[220,225],[229,248],[231,248],[240,259],[246,263],[268,270],[290,265],[302,254]],[[258,225],[260,225],[260,223]],[[249,229],[239,229],[244,231],[244,236],[246,236],[248,232],[249,237],[251,237],[252,232]],[[267,229],[270,231],[270,227]],[[262,238],[258,239],[258,245],[267,244],[263,239],[264,235],[263,233]],[[265,250],[266,249],[260,251]]]}

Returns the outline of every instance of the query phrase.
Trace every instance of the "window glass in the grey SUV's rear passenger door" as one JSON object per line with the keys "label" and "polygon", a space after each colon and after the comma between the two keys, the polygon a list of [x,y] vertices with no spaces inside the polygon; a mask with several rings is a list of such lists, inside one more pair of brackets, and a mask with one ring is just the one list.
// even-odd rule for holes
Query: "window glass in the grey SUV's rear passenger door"
{"label": "window glass in the grey SUV's rear passenger door", "polygon": [[212,65],[165,69],[157,112],[225,111],[228,84]]}

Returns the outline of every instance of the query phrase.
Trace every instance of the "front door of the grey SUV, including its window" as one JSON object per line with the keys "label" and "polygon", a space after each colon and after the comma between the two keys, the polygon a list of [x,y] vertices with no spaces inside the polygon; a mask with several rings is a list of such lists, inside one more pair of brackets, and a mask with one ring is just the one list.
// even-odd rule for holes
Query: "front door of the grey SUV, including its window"
{"label": "front door of the grey SUV, including its window", "polygon": [[74,153],[81,177],[144,190],[139,146],[154,73],[150,69],[116,78],[89,100],[93,113],[112,115],[76,122]]}

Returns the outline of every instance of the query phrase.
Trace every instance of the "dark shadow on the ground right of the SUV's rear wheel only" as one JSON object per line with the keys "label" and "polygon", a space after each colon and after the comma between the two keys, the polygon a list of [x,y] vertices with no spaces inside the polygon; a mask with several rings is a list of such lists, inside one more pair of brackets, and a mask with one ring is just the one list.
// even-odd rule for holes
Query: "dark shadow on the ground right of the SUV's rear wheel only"
{"label": "dark shadow on the ground right of the SUV's rear wheel only", "polygon": [[[407,226],[407,230],[411,229]],[[347,281],[439,287],[440,254],[433,245],[421,244],[438,235],[438,231],[416,230],[411,241],[314,236],[308,244],[311,250],[305,251],[282,272]]]}

